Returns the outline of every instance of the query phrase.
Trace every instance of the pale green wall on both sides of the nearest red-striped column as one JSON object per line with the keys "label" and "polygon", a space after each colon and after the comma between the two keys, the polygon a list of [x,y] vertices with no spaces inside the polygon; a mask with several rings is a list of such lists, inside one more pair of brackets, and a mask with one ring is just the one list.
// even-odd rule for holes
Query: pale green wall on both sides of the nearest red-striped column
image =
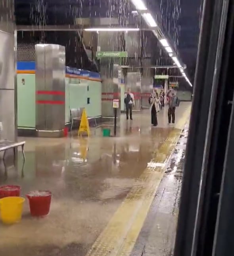
{"label": "pale green wall on both sides of the nearest red-striped column", "polygon": [[[17,75],[18,127],[36,126],[35,90],[35,74]],[[90,98],[90,104],[87,98]],[[79,107],[86,108],[88,117],[102,115],[101,82],[65,78],[65,123],[70,121],[70,109]]]}

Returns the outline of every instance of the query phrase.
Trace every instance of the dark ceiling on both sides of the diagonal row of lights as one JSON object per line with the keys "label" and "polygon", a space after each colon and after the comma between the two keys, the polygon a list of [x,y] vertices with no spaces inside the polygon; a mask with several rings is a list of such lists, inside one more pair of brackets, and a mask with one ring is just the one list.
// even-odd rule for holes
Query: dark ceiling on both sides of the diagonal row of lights
{"label": "dark ceiling on both sides of the diagonal row of lights", "polygon": [[[145,0],[161,20],[191,80],[195,73],[201,0]],[[121,4],[120,4],[121,3]],[[17,25],[73,24],[79,17],[125,17],[133,6],[126,0],[15,0]],[[161,16],[161,17],[160,17]],[[125,22],[125,19],[122,19]]]}

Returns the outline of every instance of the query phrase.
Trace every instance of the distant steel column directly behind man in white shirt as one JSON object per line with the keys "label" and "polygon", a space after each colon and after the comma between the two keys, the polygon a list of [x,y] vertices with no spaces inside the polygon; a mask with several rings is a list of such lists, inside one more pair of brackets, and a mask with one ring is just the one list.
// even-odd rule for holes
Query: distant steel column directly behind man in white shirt
{"label": "distant steel column directly behind man in white shirt", "polygon": [[141,110],[141,77],[140,72],[128,72],[127,73],[127,83],[125,90],[127,88],[131,89],[132,94],[134,95],[135,107],[134,110]]}

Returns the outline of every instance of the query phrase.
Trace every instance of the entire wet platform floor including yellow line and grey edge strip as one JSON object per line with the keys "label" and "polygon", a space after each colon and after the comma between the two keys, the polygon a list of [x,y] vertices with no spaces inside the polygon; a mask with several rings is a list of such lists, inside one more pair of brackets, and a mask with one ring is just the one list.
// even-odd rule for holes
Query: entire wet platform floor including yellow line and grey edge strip
{"label": "entire wet platform floor including yellow line and grey edge strip", "polygon": [[117,137],[99,127],[90,138],[19,138],[25,164],[20,156],[16,166],[1,161],[0,185],[53,198],[47,217],[32,218],[26,201],[20,223],[0,224],[0,255],[170,255],[190,108],[181,102],[174,127],[165,107],[156,128],[149,110],[132,121],[122,114]]}

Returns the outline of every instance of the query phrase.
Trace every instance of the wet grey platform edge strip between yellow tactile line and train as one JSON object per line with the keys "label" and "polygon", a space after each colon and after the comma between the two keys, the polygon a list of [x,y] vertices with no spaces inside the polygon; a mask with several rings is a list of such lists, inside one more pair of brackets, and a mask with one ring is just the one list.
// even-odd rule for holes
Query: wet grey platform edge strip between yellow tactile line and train
{"label": "wet grey platform edge strip between yellow tactile line and train", "polygon": [[131,256],[172,256],[188,124],[182,131]]}

